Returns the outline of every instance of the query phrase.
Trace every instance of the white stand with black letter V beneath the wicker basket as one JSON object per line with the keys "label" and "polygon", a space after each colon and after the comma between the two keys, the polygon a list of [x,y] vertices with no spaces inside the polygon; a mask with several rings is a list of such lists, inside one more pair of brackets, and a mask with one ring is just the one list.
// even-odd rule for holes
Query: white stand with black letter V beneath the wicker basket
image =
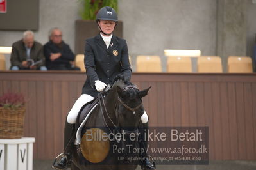
{"label": "white stand with black letter V beneath the wicker basket", "polygon": [[0,169],[32,170],[34,137],[0,139]]}

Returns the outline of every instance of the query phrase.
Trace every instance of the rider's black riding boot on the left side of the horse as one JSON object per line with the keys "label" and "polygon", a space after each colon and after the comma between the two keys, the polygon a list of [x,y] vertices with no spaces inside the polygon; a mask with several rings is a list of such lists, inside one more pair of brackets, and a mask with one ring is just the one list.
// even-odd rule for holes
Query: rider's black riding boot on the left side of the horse
{"label": "rider's black riding boot on the left side of the horse", "polygon": [[55,159],[55,162],[53,162],[53,168],[67,169],[71,160],[72,149],[74,146],[74,137],[74,124],[67,123],[66,119],[64,128],[64,153],[61,154],[62,157],[60,159],[58,159],[59,156]]}

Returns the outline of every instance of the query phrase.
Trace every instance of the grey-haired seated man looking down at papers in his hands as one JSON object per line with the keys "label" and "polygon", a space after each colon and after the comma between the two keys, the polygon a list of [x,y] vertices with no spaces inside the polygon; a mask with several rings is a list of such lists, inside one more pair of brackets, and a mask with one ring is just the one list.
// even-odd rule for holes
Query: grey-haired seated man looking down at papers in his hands
{"label": "grey-haired seated man looking down at papers in his hands", "polygon": [[25,31],[22,40],[12,45],[10,70],[47,70],[43,47],[34,41],[33,31]]}

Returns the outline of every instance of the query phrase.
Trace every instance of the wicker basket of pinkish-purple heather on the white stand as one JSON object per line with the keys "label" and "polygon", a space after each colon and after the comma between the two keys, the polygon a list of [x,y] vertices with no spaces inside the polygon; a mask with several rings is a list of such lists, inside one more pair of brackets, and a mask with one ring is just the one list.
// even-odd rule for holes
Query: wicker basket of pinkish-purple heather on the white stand
{"label": "wicker basket of pinkish-purple heather on the white stand", "polygon": [[0,139],[23,136],[25,100],[21,93],[5,93],[0,97]]}

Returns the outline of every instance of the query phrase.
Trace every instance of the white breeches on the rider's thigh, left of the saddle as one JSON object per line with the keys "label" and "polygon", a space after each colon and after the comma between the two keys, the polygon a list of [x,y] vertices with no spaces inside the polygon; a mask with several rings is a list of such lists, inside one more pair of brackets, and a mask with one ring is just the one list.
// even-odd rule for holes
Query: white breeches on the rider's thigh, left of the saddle
{"label": "white breeches on the rider's thigh, left of the saddle", "polygon": [[83,105],[87,104],[93,99],[94,97],[90,95],[87,95],[87,94],[81,95],[74,103],[71,111],[69,111],[69,114],[67,115],[67,122],[71,124],[76,123],[76,118],[78,116],[78,112],[80,111],[81,107],[83,107]]}

